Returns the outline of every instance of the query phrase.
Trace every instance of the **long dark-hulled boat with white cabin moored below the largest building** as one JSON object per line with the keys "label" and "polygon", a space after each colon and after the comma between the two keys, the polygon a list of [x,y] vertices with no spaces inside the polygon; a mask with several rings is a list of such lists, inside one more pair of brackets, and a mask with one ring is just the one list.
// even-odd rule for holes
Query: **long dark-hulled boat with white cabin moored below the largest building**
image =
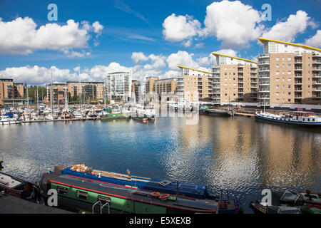
{"label": "long dark-hulled boat with white cabin moored below the largest building", "polygon": [[279,115],[265,112],[256,112],[255,120],[269,121],[271,123],[284,123],[304,127],[321,127],[321,117],[313,112],[297,111],[292,113],[280,113]]}

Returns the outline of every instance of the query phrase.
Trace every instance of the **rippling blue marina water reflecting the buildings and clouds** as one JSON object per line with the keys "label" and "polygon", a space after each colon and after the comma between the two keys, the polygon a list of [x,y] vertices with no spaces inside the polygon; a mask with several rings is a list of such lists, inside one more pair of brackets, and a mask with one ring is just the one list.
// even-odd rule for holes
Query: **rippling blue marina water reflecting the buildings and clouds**
{"label": "rippling blue marina water reflecting the buildings and clouds", "polygon": [[55,165],[86,164],[98,170],[234,190],[246,213],[269,187],[319,191],[321,134],[260,123],[253,118],[200,115],[156,123],[75,121],[0,126],[4,172],[38,181]]}

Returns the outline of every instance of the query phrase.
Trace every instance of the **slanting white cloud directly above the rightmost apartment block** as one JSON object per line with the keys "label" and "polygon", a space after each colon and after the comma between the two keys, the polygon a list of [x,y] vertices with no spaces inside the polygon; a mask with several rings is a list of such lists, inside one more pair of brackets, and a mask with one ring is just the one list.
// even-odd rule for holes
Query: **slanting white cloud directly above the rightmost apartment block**
{"label": "slanting white cloud directly above the rightmost apartment block", "polygon": [[305,11],[299,10],[291,14],[286,21],[279,21],[262,35],[263,38],[272,38],[278,41],[294,42],[298,34],[304,33],[307,26],[315,28],[314,21]]}

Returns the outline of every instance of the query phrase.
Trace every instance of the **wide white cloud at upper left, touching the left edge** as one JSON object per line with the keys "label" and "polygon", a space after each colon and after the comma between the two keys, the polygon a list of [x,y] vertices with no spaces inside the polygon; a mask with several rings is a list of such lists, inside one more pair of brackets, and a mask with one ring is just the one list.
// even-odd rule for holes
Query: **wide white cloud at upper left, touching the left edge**
{"label": "wide white cloud at upper left, touching the left edge", "polygon": [[[93,30],[101,32],[98,21]],[[92,26],[87,21],[81,24],[68,20],[65,25],[45,24],[38,28],[33,19],[21,17],[13,21],[0,19],[0,54],[29,55],[38,50],[61,51],[70,57],[86,56],[75,49],[88,48]]]}

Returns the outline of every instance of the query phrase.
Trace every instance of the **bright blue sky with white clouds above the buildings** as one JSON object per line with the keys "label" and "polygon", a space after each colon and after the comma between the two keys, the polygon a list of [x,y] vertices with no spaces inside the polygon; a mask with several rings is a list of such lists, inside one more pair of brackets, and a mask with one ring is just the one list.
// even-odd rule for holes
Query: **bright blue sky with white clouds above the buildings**
{"label": "bright blue sky with white clouds above the buildings", "polygon": [[[47,6],[51,3],[58,6],[58,21],[47,19],[49,13]],[[48,79],[46,70],[52,66],[55,66],[57,74],[59,74],[60,78],[57,77],[57,81],[63,81],[76,77],[73,69],[79,65],[84,80],[101,81],[103,75],[98,75],[99,73],[103,74],[117,67],[133,69],[133,78],[140,80],[143,80],[145,76],[152,76],[149,74],[169,77],[174,76],[175,71],[178,70],[170,66],[169,61],[185,63],[185,65],[195,68],[210,69],[213,60],[208,57],[212,51],[224,50],[225,53],[255,59],[260,51],[258,40],[253,38],[255,33],[273,35],[276,37],[273,37],[275,39],[280,37],[287,39],[284,41],[294,43],[313,44],[317,48],[321,48],[319,46],[320,41],[318,41],[320,36],[316,36],[317,31],[320,30],[320,0],[241,1],[238,3],[239,8],[236,7],[237,2],[230,1],[230,6],[235,5],[235,9],[228,6],[218,8],[220,6],[213,3],[221,4],[223,7],[222,1],[208,0],[1,0],[0,24],[2,23],[3,26],[0,25],[0,31],[3,29],[6,37],[1,37],[0,33],[0,42],[3,43],[2,46],[0,44],[0,76],[14,78],[15,81],[19,82],[30,81],[34,84],[43,84]],[[272,6],[271,21],[259,21],[256,16],[257,13],[263,12],[261,9],[263,4]],[[213,6],[212,11],[207,9],[210,5]],[[242,7],[240,8],[240,6]],[[248,7],[251,8],[253,14],[242,13]],[[228,26],[219,26],[220,23],[223,24],[229,19],[220,20],[217,12],[218,10],[224,11],[227,8],[230,9],[229,11],[235,10],[233,16],[238,17],[238,21],[235,21],[235,23],[232,21]],[[304,14],[299,14],[298,11]],[[290,15],[294,17],[292,21],[289,20]],[[182,26],[191,26],[191,29],[188,30],[195,30],[195,33],[180,33],[174,36],[178,16],[183,19]],[[15,28],[19,28],[21,31],[26,29],[26,31],[22,34],[12,33],[9,32],[11,29],[9,22],[19,18],[24,20],[26,17],[32,19],[36,24],[34,32],[40,30],[40,26],[52,23],[56,23],[59,27],[66,26],[68,20],[78,23],[79,29],[84,29],[85,26],[81,23],[86,21],[86,25],[90,28],[85,29],[87,32],[86,40],[78,44],[76,42],[81,39],[76,39],[71,43],[64,43],[62,39],[58,43],[57,38],[52,38],[54,41],[49,41],[51,38],[41,38],[41,36],[33,38],[32,34],[35,33],[31,33],[24,39],[21,38],[21,41],[14,42],[17,36],[25,36],[32,29],[23,24],[24,21],[20,21],[19,26],[26,26],[26,28],[20,28],[19,26]],[[208,17],[208,21],[205,23],[206,17]],[[165,19],[168,19],[166,26],[163,25]],[[247,24],[254,21],[254,27],[240,28],[240,26],[243,26],[243,20]],[[103,26],[98,33],[94,32],[93,28],[93,23],[96,21]],[[288,21],[287,24],[282,24],[286,21]],[[240,25],[238,26],[238,24]],[[280,32],[275,27],[272,30],[273,26],[277,24],[281,24],[281,28],[283,26],[286,29],[281,29],[282,32]],[[297,26],[297,24],[300,26]],[[253,36],[249,37],[247,33],[243,35],[240,35],[240,33],[233,34],[233,29],[231,31],[223,30],[225,34],[232,32],[228,36],[219,34],[225,27],[232,28],[233,26],[235,26],[235,31],[237,29],[248,29],[247,33],[253,34]],[[165,31],[168,31],[168,36],[165,36]],[[54,33],[54,30],[52,32]],[[240,38],[237,38],[239,35]],[[68,33],[68,36],[71,36],[71,34]],[[76,36],[76,38],[80,36]],[[233,39],[233,36],[235,36],[235,39]],[[313,40],[307,41],[313,36],[315,36]],[[4,41],[1,41],[1,38]],[[84,38],[84,36],[81,36],[81,38]],[[32,39],[34,40],[31,42]],[[244,39],[246,42],[238,43],[240,39]],[[37,41],[40,44],[36,43]],[[55,46],[55,48],[51,48],[51,43],[54,43],[52,46]],[[97,43],[98,45],[95,45]],[[1,51],[1,48],[4,51]],[[75,53],[75,55],[71,53]],[[133,53],[142,53],[143,58],[136,59],[133,57]],[[170,56],[171,58],[169,58]],[[178,58],[180,58],[180,61]],[[200,58],[203,58],[202,61]],[[111,63],[114,63],[113,66],[110,66]],[[35,71],[34,66],[39,66],[42,70],[37,68]],[[105,68],[98,69],[95,66],[104,66]],[[34,70],[33,72],[29,71],[31,68]],[[24,71],[26,72],[24,73]],[[36,73],[37,76],[33,76],[33,73]]]}

